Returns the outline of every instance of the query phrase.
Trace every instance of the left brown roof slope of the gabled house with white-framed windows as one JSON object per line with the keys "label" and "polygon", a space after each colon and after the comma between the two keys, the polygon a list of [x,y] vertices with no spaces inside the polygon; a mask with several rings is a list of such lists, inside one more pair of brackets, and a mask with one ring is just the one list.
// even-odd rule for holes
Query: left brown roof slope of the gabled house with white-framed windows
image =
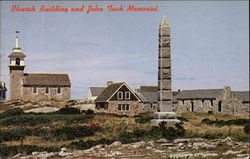
{"label": "left brown roof slope of the gabled house with white-framed windows", "polygon": [[124,82],[121,83],[112,83],[107,88],[103,90],[103,92],[95,99],[95,102],[106,102],[110,96],[112,96],[115,91],[123,85]]}

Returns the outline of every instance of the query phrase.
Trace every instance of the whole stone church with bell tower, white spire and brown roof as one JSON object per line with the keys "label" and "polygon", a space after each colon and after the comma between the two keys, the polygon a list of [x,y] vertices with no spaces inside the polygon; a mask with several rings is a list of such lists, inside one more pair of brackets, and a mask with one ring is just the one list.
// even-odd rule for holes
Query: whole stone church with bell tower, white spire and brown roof
{"label": "whole stone church with bell tower, white spire and brown roof", "polygon": [[67,74],[24,73],[26,55],[18,45],[10,58],[10,99],[25,101],[68,100],[71,98],[71,83]]}

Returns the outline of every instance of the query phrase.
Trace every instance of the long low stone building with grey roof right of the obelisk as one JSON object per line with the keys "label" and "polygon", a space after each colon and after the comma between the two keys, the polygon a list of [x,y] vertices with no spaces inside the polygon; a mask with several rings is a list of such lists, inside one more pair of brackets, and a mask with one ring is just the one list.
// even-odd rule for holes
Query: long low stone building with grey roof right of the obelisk
{"label": "long low stone building with grey roof right of the obelisk", "polygon": [[224,89],[182,90],[174,104],[176,112],[249,114],[249,91]]}

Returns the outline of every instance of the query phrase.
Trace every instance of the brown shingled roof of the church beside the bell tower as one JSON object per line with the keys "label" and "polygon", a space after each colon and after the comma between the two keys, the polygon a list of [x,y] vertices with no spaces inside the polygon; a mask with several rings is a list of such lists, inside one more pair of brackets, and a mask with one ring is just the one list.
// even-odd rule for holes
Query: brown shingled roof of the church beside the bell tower
{"label": "brown shingled roof of the church beside the bell tower", "polygon": [[67,74],[25,73],[22,80],[24,86],[71,86]]}

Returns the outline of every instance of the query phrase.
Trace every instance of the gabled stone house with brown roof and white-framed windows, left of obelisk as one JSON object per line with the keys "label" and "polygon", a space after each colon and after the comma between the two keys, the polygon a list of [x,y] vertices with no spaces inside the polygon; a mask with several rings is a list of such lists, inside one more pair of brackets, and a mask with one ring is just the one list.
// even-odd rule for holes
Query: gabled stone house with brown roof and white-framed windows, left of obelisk
{"label": "gabled stone house with brown roof and white-framed windows, left of obelisk", "polygon": [[96,111],[120,115],[142,112],[141,99],[125,82],[109,83],[95,99]]}

